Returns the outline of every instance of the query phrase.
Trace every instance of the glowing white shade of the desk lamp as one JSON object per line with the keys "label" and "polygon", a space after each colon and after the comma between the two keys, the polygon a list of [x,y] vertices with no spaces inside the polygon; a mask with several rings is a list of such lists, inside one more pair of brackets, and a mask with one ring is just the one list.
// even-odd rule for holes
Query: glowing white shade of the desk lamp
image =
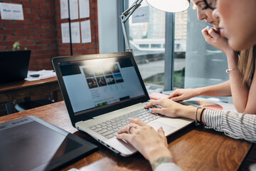
{"label": "glowing white shade of the desk lamp", "polygon": [[189,7],[190,0],[146,0],[149,5],[166,12],[181,12]]}

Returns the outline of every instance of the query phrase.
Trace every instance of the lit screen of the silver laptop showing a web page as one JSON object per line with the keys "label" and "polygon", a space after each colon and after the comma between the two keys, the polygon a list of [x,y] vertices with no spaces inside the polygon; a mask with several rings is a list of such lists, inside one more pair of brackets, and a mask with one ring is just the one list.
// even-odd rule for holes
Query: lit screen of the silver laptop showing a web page
{"label": "lit screen of the silver laptop showing a web page", "polygon": [[63,61],[58,66],[74,115],[146,96],[131,56]]}

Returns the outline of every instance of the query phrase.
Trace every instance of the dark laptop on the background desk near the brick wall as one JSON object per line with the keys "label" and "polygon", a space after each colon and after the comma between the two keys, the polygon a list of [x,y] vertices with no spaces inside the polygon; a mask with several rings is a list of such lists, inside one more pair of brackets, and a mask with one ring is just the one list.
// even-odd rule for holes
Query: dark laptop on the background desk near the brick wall
{"label": "dark laptop on the background desk near the brick wall", "polygon": [[0,83],[22,81],[28,75],[31,51],[0,52]]}

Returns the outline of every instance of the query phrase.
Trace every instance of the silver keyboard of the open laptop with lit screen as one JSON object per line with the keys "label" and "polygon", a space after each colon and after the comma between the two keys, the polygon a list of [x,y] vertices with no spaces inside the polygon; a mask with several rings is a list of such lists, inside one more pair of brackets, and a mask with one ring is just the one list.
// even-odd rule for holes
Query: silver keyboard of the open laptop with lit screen
{"label": "silver keyboard of the open laptop with lit screen", "polygon": [[117,118],[112,118],[111,120],[92,125],[88,128],[94,130],[96,133],[99,133],[105,138],[112,138],[121,128],[124,128],[125,125],[130,123],[128,118],[138,118],[143,120],[144,123],[149,123],[152,120],[160,118],[160,116],[157,114],[149,113],[148,109],[142,108],[131,113],[121,115]]}

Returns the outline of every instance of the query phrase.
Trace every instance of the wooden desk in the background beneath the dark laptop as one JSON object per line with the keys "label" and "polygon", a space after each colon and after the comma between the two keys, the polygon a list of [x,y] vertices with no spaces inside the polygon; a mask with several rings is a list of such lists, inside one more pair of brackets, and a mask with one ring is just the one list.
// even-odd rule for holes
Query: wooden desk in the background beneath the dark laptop
{"label": "wooden desk in the background beneath the dark laptop", "polygon": [[53,100],[63,100],[60,95],[57,77],[39,81],[16,81],[0,84],[0,103],[12,102],[16,99],[53,92]]}

